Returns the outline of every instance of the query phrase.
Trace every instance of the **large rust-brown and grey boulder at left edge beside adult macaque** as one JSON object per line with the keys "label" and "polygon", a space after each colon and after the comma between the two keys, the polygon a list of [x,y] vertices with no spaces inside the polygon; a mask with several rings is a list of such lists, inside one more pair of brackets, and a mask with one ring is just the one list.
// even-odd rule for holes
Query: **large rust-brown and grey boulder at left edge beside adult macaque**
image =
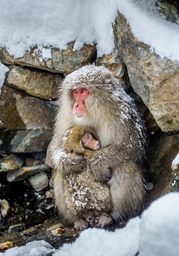
{"label": "large rust-brown and grey boulder at left edge beside adult macaque", "polygon": [[49,103],[4,85],[0,95],[1,155],[46,150],[53,132],[52,108]]}

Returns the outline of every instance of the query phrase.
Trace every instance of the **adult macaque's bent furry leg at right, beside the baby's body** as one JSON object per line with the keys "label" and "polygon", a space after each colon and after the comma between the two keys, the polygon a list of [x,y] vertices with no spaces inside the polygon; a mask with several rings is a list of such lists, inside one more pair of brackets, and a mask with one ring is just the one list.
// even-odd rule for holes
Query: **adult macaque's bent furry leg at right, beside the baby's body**
{"label": "adult macaque's bent furry leg at right, beside the baby's body", "polygon": [[111,216],[115,220],[128,220],[141,213],[146,193],[143,170],[139,164],[121,164],[113,170],[108,184],[112,200]]}

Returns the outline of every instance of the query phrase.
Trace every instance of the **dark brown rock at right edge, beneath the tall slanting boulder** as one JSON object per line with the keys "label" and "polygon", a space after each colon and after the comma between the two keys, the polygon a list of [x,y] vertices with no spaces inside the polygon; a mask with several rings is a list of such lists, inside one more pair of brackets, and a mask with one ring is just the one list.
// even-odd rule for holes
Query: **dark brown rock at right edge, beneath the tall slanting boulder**
{"label": "dark brown rock at right edge, beneath the tall slanting boulder", "polygon": [[172,171],[171,164],[179,148],[179,134],[166,135],[156,133],[151,138],[152,152],[150,154],[150,174],[153,189],[150,191],[150,201],[159,198],[170,191],[179,190],[179,170]]}

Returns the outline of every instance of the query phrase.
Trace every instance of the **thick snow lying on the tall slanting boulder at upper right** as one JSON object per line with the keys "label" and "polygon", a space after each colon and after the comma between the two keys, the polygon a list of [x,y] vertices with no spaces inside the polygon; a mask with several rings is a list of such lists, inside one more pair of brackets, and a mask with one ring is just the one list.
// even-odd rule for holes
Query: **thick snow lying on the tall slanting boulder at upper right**
{"label": "thick snow lying on the tall slanting boulder at upper right", "polygon": [[157,11],[156,0],[116,0],[117,7],[133,35],[161,58],[179,61],[179,24],[166,20]]}

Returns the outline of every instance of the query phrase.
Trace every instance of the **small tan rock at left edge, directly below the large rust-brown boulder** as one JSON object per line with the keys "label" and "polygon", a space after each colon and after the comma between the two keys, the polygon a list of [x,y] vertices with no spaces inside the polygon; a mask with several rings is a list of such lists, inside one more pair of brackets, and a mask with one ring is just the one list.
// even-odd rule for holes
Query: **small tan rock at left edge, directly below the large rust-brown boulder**
{"label": "small tan rock at left edge, directly below the large rust-brown boulder", "polygon": [[17,155],[11,154],[0,158],[0,173],[18,169],[22,166],[23,160]]}

